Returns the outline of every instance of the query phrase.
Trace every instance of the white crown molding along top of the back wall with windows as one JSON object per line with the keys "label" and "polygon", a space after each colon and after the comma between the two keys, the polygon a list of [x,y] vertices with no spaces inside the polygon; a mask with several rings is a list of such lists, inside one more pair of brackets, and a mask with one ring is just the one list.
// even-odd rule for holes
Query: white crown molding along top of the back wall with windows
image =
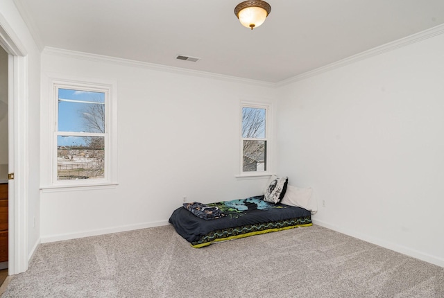
{"label": "white crown molding along top of the back wall with windows", "polygon": [[71,51],[65,49],[58,49],[49,46],[45,46],[43,49],[43,53],[47,55],[56,55],[65,58],[79,59],[79,60],[87,60],[92,62],[102,62],[108,64],[115,64],[126,67],[139,67],[144,69],[151,69],[155,71],[165,71],[170,73],[179,73],[185,76],[198,76],[200,78],[212,78],[215,80],[225,80],[229,82],[239,82],[242,84],[256,85],[262,87],[275,87],[275,83],[273,82],[265,82],[261,80],[251,80],[248,78],[239,78],[235,76],[226,76],[219,73],[210,73],[207,71],[196,71],[192,69],[183,69],[180,67],[169,67],[167,65],[162,64],[154,64],[149,62],[142,62],[137,60],[129,60],[123,58],[115,58],[106,55],[97,55],[92,53],[85,53],[79,51]]}

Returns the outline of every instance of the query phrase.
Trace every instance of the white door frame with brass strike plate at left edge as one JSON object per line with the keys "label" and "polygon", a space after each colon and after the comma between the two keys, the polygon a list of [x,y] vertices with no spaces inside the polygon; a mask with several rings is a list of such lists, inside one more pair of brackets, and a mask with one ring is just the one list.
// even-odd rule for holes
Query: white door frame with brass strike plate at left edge
{"label": "white door frame with brass strike plate at left edge", "polygon": [[0,46],[8,53],[8,274],[28,269],[28,53],[0,13]]}

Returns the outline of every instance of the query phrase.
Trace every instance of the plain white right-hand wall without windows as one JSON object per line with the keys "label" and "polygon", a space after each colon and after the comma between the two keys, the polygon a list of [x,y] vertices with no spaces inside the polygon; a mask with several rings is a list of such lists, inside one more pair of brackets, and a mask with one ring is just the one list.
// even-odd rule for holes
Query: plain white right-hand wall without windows
{"label": "plain white right-hand wall without windows", "polygon": [[443,65],[438,35],[280,87],[278,173],[315,222],[444,266]]}

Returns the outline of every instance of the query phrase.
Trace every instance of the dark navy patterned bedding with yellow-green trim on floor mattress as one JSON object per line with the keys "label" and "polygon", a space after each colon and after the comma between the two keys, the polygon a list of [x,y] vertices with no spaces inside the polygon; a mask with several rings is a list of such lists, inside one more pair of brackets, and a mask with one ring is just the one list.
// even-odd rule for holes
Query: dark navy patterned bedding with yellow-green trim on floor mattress
{"label": "dark navy patterned bedding with yellow-green trim on floor mattress", "polygon": [[214,241],[241,238],[268,231],[279,231],[292,227],[311,225],[310,211],[284,204],[273,204],[256,196],[205,204],[219,209],[225,216],[205,220],[180,207],[173,211],[169,222],[178,234],[193,247],[210,245]]}

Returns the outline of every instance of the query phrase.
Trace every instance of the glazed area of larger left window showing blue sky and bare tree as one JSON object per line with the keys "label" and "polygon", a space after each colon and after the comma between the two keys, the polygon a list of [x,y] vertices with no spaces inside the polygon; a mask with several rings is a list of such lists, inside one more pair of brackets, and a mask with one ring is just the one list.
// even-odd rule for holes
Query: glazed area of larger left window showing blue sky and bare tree
{"label": "glazed area of larger left window showing blue sky and bare tree", "polygon": [[105,177],[107,91],[56,87],[57,180]]}

